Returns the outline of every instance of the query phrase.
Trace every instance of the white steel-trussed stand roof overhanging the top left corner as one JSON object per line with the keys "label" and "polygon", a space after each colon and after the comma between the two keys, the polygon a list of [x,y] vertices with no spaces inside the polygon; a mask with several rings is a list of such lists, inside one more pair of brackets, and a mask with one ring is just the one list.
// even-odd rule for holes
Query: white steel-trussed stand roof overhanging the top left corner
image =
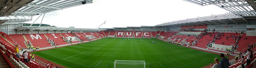
{"label": "white steel-trussed stand roof overhanging the top left corner", "polygon": [[92,0],[0,0],[0,24],[32,21],[32,16],[92,3]]}

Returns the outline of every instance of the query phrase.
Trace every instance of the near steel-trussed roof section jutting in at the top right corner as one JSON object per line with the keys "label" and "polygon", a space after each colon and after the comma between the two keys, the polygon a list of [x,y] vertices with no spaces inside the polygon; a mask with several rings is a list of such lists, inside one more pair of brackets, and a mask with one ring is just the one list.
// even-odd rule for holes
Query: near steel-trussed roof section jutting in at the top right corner
{"label": "near steel-trussed roof section jutting in at the top right corner", "polygon": [[184,0],[197,5],[215,5],[237,15],[256,15],[255,0]]}

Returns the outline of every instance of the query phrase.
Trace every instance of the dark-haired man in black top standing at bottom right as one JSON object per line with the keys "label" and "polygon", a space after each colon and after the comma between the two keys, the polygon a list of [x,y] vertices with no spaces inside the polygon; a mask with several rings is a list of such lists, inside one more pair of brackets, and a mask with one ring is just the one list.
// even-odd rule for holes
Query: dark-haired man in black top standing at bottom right
{"label": "dark-haired man in black top standing at bottom right", "polygon": [[229,68],[229,60],[225,58],[225,55],[223,53],[220,53],[220,68]]}

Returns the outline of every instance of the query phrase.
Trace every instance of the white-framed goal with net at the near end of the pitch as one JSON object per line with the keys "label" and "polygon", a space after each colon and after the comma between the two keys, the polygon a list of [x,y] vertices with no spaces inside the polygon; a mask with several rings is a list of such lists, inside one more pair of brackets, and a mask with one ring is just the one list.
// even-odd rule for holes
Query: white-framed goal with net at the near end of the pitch
{"label": "white-framed goal with net at the near end of the pitch", "polygon": [[145,61],[115,60],[114,68],[145,68]]}

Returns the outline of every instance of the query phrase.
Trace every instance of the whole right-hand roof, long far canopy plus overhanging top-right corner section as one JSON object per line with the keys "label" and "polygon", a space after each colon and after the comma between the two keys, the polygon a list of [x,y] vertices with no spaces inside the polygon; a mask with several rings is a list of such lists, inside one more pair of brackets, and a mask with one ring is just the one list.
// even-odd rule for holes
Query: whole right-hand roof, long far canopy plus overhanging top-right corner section
{"label": "whole right-hand roof, long far canopy plus overhanging top-right corner section", "polygon": [[221,15],[189,18],[185,20],[166,22],[156,25],[163,26],[188,26],[188,25],[212,25],[212,24],[238,24],[256,22],[255,0],[184,0],[197,5],[215,5],[229,11]]}

